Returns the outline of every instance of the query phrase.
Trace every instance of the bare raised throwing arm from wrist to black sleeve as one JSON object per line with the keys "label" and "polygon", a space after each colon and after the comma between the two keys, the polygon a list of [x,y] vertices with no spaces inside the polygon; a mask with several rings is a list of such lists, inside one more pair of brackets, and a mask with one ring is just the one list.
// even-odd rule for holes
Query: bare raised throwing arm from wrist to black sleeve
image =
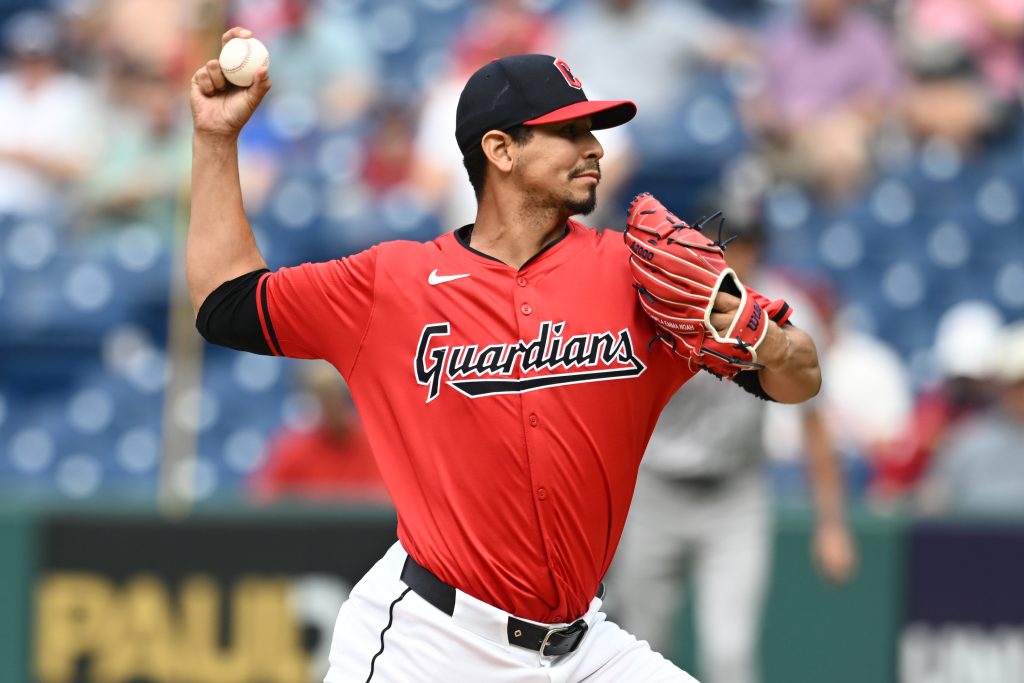
{"label": "bare raised throwing arm from wrist to black sleeve", "polygon": [[242,204],[238,153],[237,137],[193,139],[185,278],[195,311],[222,283],[266,267]]}

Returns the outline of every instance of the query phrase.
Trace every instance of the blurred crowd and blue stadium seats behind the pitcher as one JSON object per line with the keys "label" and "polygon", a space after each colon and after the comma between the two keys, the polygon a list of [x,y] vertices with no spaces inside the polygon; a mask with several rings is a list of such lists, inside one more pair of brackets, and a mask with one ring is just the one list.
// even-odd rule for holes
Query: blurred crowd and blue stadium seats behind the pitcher
{"label": "blurred crowd and blue stadium seats behind the pitcher", "polygon": [[[154,458],[146,469],[132,456],[153,450],[153,430],[126,442],[133,414],[119,401],[166,383],[164,309],[147,300],[140,322],[134,281],[102,254],[130,265],[140,244],[166,252],[153,287],[169,305],[187,216],[186,84],[221,32],[241,25],[271,55],[273,88],[241,145],[247,209],[271,266],[471,222],[453,134],[463,83],[492,57],[556,54],[591,98],[631,98],[640,112],[599,135],[601,202],[587,221],[621,228],[627,199],[643,189],[684,216],[714,197],[727,229],[758,226],[764,267],[820,318],[817,410],[852,497],[928,513],[1024,510],[1024,264],[1013,260],[1024,254],[1014,251],[1024,246],[1024,0],[22,0],[0,3],[0,345],[36,364],[8,360],[0,379],[0,483],[60,476],[82,441],[70,432],[76,447],[65,454],[33,421],[49,424],[72,410],[68,396],[100,388],[114,408],[85,430],[94,451],[109,443],[122,465],[156,476]],[[979,168],[1000,175],[978,181]],[[989,230],[986,248],[974,236]],[[66,280],[61,255],[92,276]],[[72,304],[110,290],[102,305],[127,311],[112,318],[121,346],[102,331],[84,336],[78,345],[100,359],[57,362],[60,376],[40,382],[33,373],[56,372],[53,357],[72,352],[58,324],[108,309],[72,306],[39,323],[17,303],[35,292],[33,306],[49,305],[30,288],[34,272],[63,282]],[[164,364],[145,384],[138,373],[154,354]],[[343,387],[325,398],[323,382],[292,364],[248,387],[269,387],[251,398],[270,408],[232,413],[241,361],[211,352],[206,362],[200,430],[247,435],[201,439],[209,472],[225,454],[234,463],[209,489],[332,490],[303,483],[302,464],[284,453],[307,438],[298,450],[317,454],[308,467],[337,479],[338,495],[361,484],[378,495],[357,417],[340,431],[329,418],[346,409],[335,400]],[[123,371],[124,393],[97,368]],[[220,410],[207,419],[210,404]],[[152,405],[159,431],[165,412]],[[313,417],[303,405],[317,407]],[[809,446],[795,421],[771,411],[765,424],[782,496],[807,496],[796,464]],[[358,464],[324,466],[331,453]],[[93,464],[80,459],[68,476],[91,472],[95,485],[61,493],[108,490],[117,463],[88,455]]]}

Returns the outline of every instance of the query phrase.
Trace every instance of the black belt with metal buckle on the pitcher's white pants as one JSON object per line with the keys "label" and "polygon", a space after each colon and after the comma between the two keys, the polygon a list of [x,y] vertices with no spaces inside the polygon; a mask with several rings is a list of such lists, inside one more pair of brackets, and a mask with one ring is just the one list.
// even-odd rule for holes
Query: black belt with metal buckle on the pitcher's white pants
{"label": "black belt with metal buckle on the pitcher's white pants", "polygon": [[[452,616],[455,614],[455,588],[443,583],[412,557],[406,559],[401,568],[401,580],[417,595]],[[601,591],[604,587],[602,585]],[[509,615],[509,643],[536,650],[547,656],[557,656],[574,652],[583,637],[587,635],[587,622],[578,618],[560,629],[548,629]]]}

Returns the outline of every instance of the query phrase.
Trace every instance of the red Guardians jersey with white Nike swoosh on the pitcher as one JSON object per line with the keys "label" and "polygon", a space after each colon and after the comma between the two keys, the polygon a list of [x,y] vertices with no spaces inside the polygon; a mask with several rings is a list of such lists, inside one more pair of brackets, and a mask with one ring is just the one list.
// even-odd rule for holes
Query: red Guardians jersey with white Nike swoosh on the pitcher
{"label": "red Guardians jersey with white Nike swoosh on the pitcher", "polygon": [[348,381],[441,581],[538,622],[587,610],[658,414],[692,372],[640,309],[617,232],[569,222],[516,270],[452,232],[266,273],[274,353]]}

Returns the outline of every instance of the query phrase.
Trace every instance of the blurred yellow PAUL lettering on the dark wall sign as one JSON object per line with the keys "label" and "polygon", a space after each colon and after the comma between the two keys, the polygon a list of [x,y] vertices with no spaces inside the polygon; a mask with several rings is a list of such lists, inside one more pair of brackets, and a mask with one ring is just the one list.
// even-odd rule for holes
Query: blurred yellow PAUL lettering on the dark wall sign
{"label": "blurred yellow PAUL lettering on the dark wall sign", "polygon": [[173,590],[151,573],[50,571],[36,591],[37,680],[81,680],[87,666],[95,683],[307,683],[321,663],[303,646],[294,583],[241,575],[225,591],[196,573]]}

